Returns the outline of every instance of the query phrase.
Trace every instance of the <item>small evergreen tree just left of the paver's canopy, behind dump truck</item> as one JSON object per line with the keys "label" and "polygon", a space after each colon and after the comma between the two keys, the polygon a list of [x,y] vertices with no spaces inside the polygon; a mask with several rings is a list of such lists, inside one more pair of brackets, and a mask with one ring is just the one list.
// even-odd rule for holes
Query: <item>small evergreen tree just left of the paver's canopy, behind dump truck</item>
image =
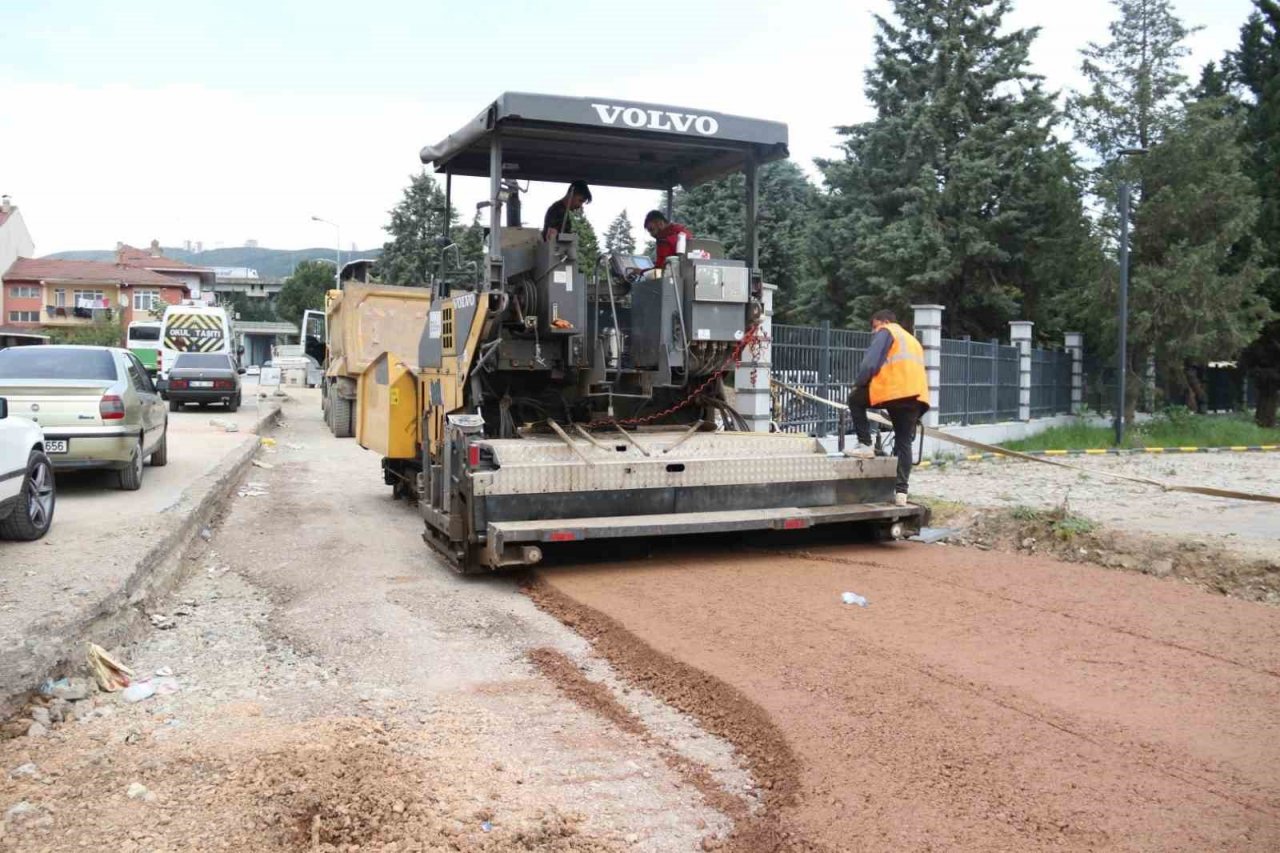
{"label": "small evergreen tree just left of the paver's canopy, behind dump truck", "polygon": [[426,172],[412,175],[388,215],[390,223],[383,231],[392,238],[383,243],[380,278],[388,284],[428,286],[440,264],[444,216],[451,224],[457,222],[454,211],[445,210],[444,192]]}

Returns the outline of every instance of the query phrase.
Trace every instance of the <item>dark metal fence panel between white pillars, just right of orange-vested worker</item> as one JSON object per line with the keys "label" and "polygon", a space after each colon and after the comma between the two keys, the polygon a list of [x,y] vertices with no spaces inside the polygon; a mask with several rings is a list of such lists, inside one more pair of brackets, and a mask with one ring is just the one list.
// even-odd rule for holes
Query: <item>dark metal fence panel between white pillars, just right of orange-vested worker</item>
{"label": "dark metal fence panel between white pillars, just right of orange-vested worker", "polygon": [[991,424],[1018,418],[1018,347],[943,338],[941,361],[938,423]]}

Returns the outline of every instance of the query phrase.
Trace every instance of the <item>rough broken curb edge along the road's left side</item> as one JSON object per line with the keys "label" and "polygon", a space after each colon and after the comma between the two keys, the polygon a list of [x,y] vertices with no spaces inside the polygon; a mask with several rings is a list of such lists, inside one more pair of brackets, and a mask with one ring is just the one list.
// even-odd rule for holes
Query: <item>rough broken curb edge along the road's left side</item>
{"label": "rough broken curb edge along the road's left side", "polygon": [[[83,666],[84,643],[110,648],[137,635],[150,624],[146,605],[169,592],[183,574],[182,555],[191,540],[221,508],[260,446],[259,437],[275,428],[278,401],[266,401],[252,432],[218,466],[183,491],[164,514],[160,539],[138,557],[124,585],[84,605],[70,617],[33,622],[0,666],[0,717],[20,710],[26,695],[54,674]],[[198,497],[195,497],[198,496]]]}

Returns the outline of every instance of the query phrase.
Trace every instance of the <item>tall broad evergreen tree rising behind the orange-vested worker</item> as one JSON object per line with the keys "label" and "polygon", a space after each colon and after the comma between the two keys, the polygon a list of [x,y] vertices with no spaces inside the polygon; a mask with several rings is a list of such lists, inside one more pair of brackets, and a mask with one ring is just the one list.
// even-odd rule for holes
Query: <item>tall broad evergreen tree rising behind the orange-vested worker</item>
{"label": "tall broad evergreen tree rising behind the orange-vested worker", "polygon": [[1029,69],[1037,31],[1005,32],[1009,9],[893,0],[895,20],[877,17],[876,119],[838,128],[844,159],[819,161],[829,195],[810,315],[861,327],[881,307],[940,302],[952,334],[988,337],[1080,280],[1089,237],[1075,163]]}

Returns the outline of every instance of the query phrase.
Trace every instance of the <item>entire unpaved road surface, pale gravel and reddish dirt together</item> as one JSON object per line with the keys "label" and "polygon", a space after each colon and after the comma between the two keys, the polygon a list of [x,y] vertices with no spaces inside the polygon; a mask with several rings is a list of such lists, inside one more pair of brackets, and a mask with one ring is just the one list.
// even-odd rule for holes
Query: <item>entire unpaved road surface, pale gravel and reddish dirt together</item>
{"label": "entire unpaved road surface, pale gravel and reddish dirt together", "polygon": [[916,544],[460,578],[284,414],[118,649],[180,689],[0,743],[0,849],[1280,848],[1277,608]]}

